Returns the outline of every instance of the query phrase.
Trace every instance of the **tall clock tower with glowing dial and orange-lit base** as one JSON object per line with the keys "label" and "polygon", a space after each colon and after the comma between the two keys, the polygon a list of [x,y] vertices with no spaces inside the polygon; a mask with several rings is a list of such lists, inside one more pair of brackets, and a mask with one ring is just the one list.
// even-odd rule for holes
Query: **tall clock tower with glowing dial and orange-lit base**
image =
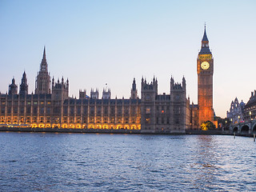
{"label": "tall clock tower with glowing dial and orange-lit base", "polygon": [[202,122],[214,122],[213,109],[213,74],[214,58],[209,49],[209,41],[205,31],[202,37],[202,46],[198,54],[198,126]]}

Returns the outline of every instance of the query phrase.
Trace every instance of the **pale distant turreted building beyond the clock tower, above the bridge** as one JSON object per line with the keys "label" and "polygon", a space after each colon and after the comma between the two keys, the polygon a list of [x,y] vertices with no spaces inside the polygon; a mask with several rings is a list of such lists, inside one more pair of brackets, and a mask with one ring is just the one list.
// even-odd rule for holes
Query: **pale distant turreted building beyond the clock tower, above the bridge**
{"label": "pale distant turreted building beyond the clock tower, above the bridge", "polygon": [[231,123],[244,122],[244,108],[245,103],[239,103],[238,98],[235,98],[230,104],[230,111],[226,111],[226,118],[229,118]]}

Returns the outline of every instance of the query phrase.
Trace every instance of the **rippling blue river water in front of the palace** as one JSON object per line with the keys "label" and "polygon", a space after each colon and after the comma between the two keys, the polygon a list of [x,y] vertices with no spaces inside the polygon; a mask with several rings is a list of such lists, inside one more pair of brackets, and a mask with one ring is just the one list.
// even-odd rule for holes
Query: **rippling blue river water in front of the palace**
{"label": "rippling blue river water in front of the palace", "polygon": [[0,191],[255,191],[253,138],[0,132]]}

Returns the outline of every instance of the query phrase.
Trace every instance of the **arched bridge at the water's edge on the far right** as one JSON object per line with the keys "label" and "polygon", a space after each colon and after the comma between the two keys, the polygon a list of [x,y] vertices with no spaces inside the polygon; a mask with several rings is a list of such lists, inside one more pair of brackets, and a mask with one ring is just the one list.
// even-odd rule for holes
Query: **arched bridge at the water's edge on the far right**
{"label": "arched bridge at the water's edge on the far right", "polygon": [[237,135],[256,134],[256,119],[252,121],[239,122],[230,125],[230,133]]}

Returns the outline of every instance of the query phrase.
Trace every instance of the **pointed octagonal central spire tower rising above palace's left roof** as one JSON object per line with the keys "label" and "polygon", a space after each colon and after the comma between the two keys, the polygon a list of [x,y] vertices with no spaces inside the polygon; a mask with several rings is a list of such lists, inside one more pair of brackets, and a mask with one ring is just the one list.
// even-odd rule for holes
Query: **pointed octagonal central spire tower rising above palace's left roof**
{"label": "pointed octagonal central spire tower rising above palace's left roof", "polygon": [[50,94],[50,74],[48,73],[48,64],[46,61],[46,46],[43,49],[42,62],[35,81],[35,94]]}

